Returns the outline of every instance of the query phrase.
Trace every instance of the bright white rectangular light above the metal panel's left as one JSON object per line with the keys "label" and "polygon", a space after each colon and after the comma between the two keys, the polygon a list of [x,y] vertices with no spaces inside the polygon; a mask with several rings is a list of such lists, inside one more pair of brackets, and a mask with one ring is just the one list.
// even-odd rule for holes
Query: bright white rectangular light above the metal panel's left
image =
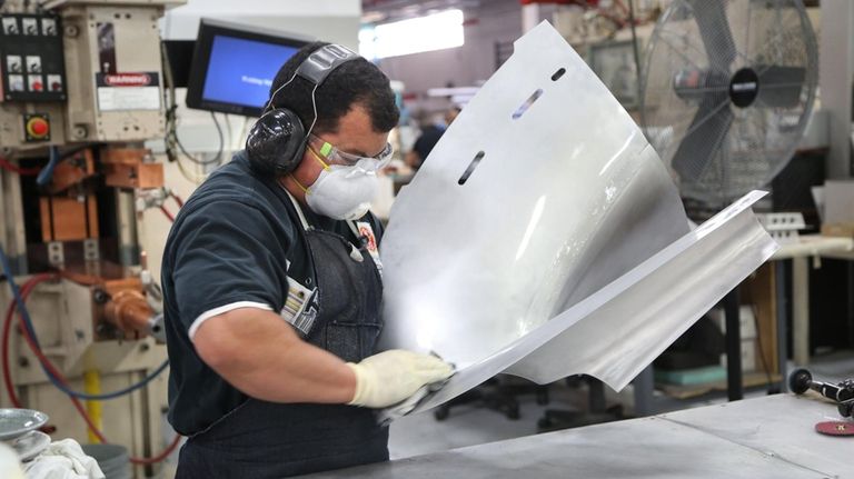
{"label": "bright white rectangular light above the metal panel's left", "polygon": [[359,53],[368,59],[399,57],[461,47],[463,11],[446,10],[359,30]]}

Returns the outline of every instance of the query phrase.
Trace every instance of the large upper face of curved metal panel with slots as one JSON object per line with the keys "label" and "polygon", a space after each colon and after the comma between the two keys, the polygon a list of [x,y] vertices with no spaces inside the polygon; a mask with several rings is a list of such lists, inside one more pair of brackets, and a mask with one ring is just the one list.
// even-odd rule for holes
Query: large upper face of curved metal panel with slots
{"label": "large upper face of curved metal panel with slots", "polygon": [[393,206],[383,346],[477,363],[687,230],[640,130],[544,22]]}

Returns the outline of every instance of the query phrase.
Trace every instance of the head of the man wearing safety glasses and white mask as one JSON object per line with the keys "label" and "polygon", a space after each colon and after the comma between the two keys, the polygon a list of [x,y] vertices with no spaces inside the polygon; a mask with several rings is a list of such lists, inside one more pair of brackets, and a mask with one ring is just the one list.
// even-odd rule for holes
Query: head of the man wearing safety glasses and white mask
{"label": "head of the man wearing safety glasses and white mask", "polygon": [[376,169],[390,157],[388,133],[399,111],[388,78],[364,58],[338,64],[317,86],[295,76],[306,59],[327,44],[300,49],[272,81],[268,109],[292,112],[307,141],[292,169],[268,173],[298,184],[316,212],[350,218],[364,209],[347,208],[350,203],[361,199],[359,204],[365,206],[373,197]]}

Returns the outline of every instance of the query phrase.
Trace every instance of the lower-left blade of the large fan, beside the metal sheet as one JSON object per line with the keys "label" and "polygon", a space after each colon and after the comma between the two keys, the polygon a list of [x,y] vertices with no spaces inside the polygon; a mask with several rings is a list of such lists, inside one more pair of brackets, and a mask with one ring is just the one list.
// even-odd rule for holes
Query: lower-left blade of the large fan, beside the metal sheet
{"label": "lower-left blade of the large fan, beside the metal sheet", "polygon": [[[719,110],[715,111],[716,109]],[[726,93],[707,93],[671,160],[671,166],[683,181],[699,180],[721,148],[732,123],[733,111]]]}

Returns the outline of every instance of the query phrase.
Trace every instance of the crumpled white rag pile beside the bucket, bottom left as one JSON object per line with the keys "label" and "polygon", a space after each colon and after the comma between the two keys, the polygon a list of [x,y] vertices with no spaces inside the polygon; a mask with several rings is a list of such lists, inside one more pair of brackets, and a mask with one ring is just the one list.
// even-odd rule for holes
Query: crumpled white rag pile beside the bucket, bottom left
{"label": "crumpled white rag pile beside the bucket, bottom left", "polygon": [[105,479],[95,458],[87,456],[73,439],[51,442],[24,465],[27,479]]}

